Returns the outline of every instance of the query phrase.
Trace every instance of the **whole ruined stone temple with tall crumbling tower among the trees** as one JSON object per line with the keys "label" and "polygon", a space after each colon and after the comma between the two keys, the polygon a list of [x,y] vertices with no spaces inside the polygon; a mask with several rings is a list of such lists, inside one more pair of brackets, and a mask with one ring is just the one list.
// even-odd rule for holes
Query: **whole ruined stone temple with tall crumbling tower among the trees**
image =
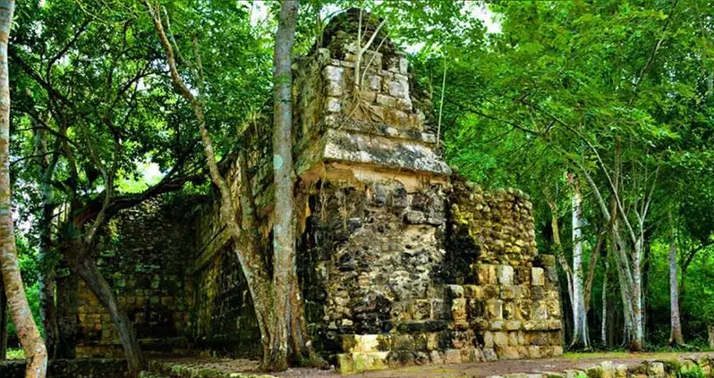
{"label": "whole ruined stone temple with tall crumbling tower among the trees", "polygon": [[[429,96],[384,31],[355,77],[359,14],[336,16],[293,65],[298,273],[316,348],[343,372],[562,354],[555,259],[537,253],[529,198],[452,172],[437,153]],[[365,13],[363,24],[369,38],[378,21]],[[250,137],[267,235],[268,134]],[[125,211],[102,250],[98,263],[145,349],[259,353],[214,197]],[[73,293],[60,297],[72,298],[63,337],[76,353],[121,354],[89,290],[69,277],[59,284]]]}

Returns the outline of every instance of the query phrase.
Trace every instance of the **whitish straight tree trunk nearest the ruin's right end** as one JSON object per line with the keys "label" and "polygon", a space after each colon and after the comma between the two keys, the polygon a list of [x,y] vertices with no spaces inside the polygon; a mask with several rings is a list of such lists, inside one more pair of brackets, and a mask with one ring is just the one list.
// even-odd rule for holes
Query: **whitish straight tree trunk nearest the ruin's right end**
{"label": "whitish straight tree trunk nearest the ruin's right end", "polygon": [[589,348],[588,317],[582,284],[582,197],[577,179],[573,181],[573,342],[571,348]]}

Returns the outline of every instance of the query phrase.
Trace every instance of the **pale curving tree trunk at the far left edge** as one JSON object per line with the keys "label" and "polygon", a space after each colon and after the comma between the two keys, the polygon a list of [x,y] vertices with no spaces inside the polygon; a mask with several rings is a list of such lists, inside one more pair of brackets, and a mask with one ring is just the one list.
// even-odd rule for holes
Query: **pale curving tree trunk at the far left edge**
{"label": "pale curving tree trunk at the far left edge", "polygon": [[7,43],[13,23],[13,0],[0,3],[0,267],[10,314],[27,357],[26,377],[47,374],[47,349],[32,318],[17,263],[10,194],[10,84]]}

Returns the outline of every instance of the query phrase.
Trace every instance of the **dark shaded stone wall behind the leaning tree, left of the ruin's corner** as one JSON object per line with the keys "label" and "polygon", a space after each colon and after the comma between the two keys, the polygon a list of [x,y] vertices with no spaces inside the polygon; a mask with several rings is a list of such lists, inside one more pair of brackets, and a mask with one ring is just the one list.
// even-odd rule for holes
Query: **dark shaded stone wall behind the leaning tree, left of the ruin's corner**
{"label": "dark shaded stone wall behind the leaning tree, left of the ruin's corner", "polygon": [[[97,265],[147,349],[185,348],[180,341],[188,329],[192,290],[185,265],[193,253],[191,202],[159,198],[125,210],[98,242]],[[108,311],[84,281],[77,285],[77,355],[122,356]],[[172,339],[175,344],[168,342]]]}

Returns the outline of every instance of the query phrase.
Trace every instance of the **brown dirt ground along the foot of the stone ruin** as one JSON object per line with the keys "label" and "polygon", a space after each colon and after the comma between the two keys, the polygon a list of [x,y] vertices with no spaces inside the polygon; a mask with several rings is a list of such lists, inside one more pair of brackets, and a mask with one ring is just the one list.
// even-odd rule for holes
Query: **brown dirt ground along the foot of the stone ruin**
{"label": "brown dirt ground along the foot of the stone ruin", "polygon": [[[667,360],[675,358],[697,358],[714,353],[578,353],[565,354],[563,357],[502,360],[494,362],[480,362],[462,365],[421,365],[409,366],[400,369],[381,370],[361,374],[337,374],[334,370],[317,370],[298,368],[290,369],[284,373],[275,374],[278,377],[297,378],[457,378],[457,377],[486,377],[489,375],[504,375],[512,373],[541,373],[563,372],[567,369],[582,369],[601,361],[612,361],[615,364],[638,365],[643,361]],[[216,369],[223,372],[257,372],[258,363],[246,359],[228,358],[177,358],[170,362],[174,365],[192,365],[202,368]]]}

